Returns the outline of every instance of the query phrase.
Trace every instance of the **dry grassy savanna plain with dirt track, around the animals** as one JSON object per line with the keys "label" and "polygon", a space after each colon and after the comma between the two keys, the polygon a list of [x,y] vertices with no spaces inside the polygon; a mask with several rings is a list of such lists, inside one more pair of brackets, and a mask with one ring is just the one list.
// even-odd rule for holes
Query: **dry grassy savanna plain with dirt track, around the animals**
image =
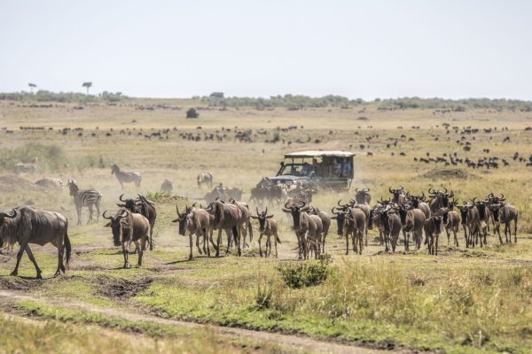
{"label": "dry grassy savanna plain with dirt track, around the animals", "polygon": [[[200,117],[186,119],[192,106]],[[70,268],[55,278],[57,250],[32,246],[43,280],[33,279],[26,255],[19,276],[10,276],[18,246],[2,250],[0,352],[532,352],[531,112],[200,106],[194,100],[0,101],[0,209],[61,212],[73,244]],[[297,128],[284,129],[289,126]],[[461,135],[467,127],[478,131]],[[249,130],[251,142],[235,138]],[[206,140],[211,134],[222,141]],[[471,150],[464,150],[465,142]],[[275,205],[269,212],[280,226],[278,258],[259,256],[254,223],[254,239],[241,257],[208,258],[194,247],[189,261],[189,239],[171,220],[176,205],[180,211],[205,205],[207,189],[197,186],[196,175],[208,171],[215,184],[243,189],[248,201],[262,176],[275,175],[284,154],[297,150],[356,153],[351,189],[313,197],[323,211],[363,187],[372,204],[399,186],[411,194],[446,188],[460,204],[503,193],[519,211],[517,242],[500,244],[490,228],[486,246],[465,248],[460,227],[459,246],[442,233],[437,256],[425,245],[404,251],[402,236],[392,254],[371,230],[362,255],[345,255],[333,223],[325,242],[329,256],[301,261],[292,219]],[[497,157],[498,168],[414,160],[449,159],[455,152],[475,162]],[[516,152],[524,159],[514,159]],[[16,163],[33,158],[36,173],[13,173]],[[126,184],[122,191],[112,163],[141,173],[140,189]],[[76,226],[68,189],[39,189],[35,181],[42,177],[100,190],[101,212],[116,212],[122,193],[152,196],[155,247],[145,252],[143,266],[122,269],[106,220],[86,225],[83,209],[83,225]],[[171,196],[156,194],[164,179],[173,183]],[[135,264],[137,256],[129,257]],[[287,270],[319,281],[290,287]]]}

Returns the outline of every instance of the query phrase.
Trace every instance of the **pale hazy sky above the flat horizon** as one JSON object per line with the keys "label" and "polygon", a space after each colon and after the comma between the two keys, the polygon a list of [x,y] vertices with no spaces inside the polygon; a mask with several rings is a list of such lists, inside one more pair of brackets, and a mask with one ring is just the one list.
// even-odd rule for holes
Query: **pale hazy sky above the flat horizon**
{"label": "pale hazy sky above the flat horizon", "polygon": [[531,1],[0,0],[0,91],[532,99]]}

